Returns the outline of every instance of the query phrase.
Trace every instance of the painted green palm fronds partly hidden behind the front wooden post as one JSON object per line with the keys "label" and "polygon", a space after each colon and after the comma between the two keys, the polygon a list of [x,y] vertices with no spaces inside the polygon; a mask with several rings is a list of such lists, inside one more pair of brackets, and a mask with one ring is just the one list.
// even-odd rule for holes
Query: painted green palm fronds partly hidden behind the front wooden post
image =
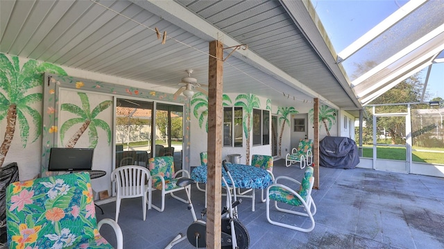
{"label": "painted green palm fronds partly hidden behind the front wooden post", "polygon": [[[193,98],[191,98],[191,106],[193,105],[193,114],[199,121],[199,127],[202,129],[205,122],[205,131],[208,132],[208,96],[201,92],[196,92]],[[231,105],[231,98],[227,94],[222,95],[222,105]]]}

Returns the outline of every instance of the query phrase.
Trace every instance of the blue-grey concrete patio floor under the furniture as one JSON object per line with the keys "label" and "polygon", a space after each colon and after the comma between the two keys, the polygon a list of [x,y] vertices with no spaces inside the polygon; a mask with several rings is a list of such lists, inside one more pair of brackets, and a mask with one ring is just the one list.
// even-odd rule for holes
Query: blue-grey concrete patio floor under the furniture
{"label": "blue-grey concrete patio floor under the furniture", "polygon": [[[274,165],[275,176],[289,175],[300,180],[305,171],[298,166],[287,168],[284,160]],[[195,186],[191,191],[199,213],[204,194]],[[153,192],[154,203],[160,203],[159,196]],[[260,190],[256,190],[255,212],[251,211],[249,198],[239,205],[239,221],[250,235],[249,248],[444,248],[443,178],[321,167],[320,187],[312,193],[318,207],[316,227],[309,233],[268,223],[266,205],[259,196]],[[186,233],[192,222],[187,205],[171,197],[166,200],[164,212],[148,210],[146,221],[142,219],[141,205],[141,198],[122,200],[119,225],[126,249],[164,248],[179,232]],[[114,219],[114,202],[101,207],[105,214],[96,209],[98,221]],[[271,210],[271,215],[282,221],[298,225],[308,222],[305,217]],[[110,227],[102,227],[101,234],[115,244]],[[194,247],[185,240],[174,248]]]}

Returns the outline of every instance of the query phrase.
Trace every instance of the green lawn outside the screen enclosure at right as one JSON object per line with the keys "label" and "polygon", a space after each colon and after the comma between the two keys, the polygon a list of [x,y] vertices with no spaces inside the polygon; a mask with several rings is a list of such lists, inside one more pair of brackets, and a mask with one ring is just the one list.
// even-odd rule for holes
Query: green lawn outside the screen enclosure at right
{"label": "green lawn outside the screen enclosure at right", "polygon": [[[416,148],[419,149],[419,148]],[[425,148],[421,148],[425,149]],[[429,148],[430,149],[430,148]],[[376,155],[380,159],[406,160],[405,148],[377,147]],[[443,148],[432,148],[433,151],[444,151]],[[363,157],[373,157],[373,148],[363,148]],[[444,164],[444,153],[413,151],[413,162],[427,162],[430,164]]]}

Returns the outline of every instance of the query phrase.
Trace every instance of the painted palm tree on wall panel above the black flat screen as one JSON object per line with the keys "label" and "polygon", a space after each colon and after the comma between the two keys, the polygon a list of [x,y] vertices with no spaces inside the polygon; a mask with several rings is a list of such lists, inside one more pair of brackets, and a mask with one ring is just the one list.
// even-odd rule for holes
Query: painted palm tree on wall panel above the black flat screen
{"label": "painted palm tree on wall panel above the black flat screen", "polygon": [[89,128],[88,137],[89,137],[89,148],[96,148],[97,142],[99,141],[99,135],[97,133],[97,128],[101,128],[105,130],[108,135],[108,145],[111,143],[111,129],[108,126],[108,123],[101,119],[96,119],[99,113],[103,112],[107,108],[112,105],[112,101],[103,101],[99,103],[92,111],[89,107],[89,98],[87,94],[83,92],[78,92],[78,96],[80,97],[80,101],[82,103],[82,107],[80,108],[77,105],[71,103],[63,103],[60,106],[62,111],[71,112],[72,114],[76,114],[79,117],[68,119],[65,123],[60,127],[60,140],[63,142],[65,138],[65,134],[67,130],[69,130],[74,125],[81,123],[82,126],[77,130],[74,135],[69,139],[66,144],[66,148],[74,148],[78,139],[83,135],[85,130]]}

